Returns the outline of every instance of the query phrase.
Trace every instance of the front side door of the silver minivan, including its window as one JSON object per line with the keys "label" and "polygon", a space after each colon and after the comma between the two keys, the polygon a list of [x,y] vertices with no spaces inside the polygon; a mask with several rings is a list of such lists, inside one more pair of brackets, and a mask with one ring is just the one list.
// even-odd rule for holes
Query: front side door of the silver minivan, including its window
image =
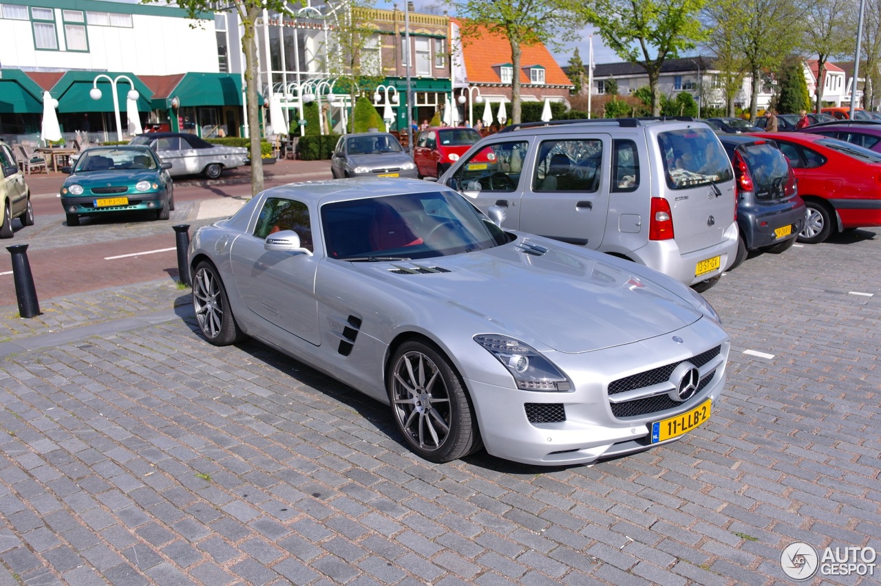
{"label": "front side door of the silver minivan, including its window", "polygon": [[[486,212],[492,206],[504,210],[505,221],[502,226],[517,230],[520,225],[520,200],[524,186],[529,179],[524,169],[531,158],[529,143],[533,137],[493,139],[480,143],[480,148],[471,151],[470,157],[460,159],[447,181],[474,205]],[[486,151],[494,158],[487,160]]]}

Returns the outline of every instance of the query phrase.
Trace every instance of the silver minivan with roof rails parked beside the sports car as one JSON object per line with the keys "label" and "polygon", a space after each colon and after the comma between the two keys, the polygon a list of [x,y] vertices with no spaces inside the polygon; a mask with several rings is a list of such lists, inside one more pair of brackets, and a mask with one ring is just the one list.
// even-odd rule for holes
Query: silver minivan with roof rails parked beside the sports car
{"label": "silver minivan with roof rails parked beside the sports car", "polygon": [[503,227],[633,260],[696,289],[737,253],[734,172],[700,121],[509,126],[438,180],[484,211],[503,209]]}

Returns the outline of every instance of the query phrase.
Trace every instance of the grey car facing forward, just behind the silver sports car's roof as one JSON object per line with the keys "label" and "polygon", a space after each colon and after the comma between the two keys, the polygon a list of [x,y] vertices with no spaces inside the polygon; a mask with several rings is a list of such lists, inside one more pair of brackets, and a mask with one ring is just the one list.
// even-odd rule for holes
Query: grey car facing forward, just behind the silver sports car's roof
{"label": "grey car facing forward, just behind the silver sports car's roof", "polygon": [[335,179],[344,177],[411,177],[416,165],[388,132],[359,132],[339,137],[330,161]]}

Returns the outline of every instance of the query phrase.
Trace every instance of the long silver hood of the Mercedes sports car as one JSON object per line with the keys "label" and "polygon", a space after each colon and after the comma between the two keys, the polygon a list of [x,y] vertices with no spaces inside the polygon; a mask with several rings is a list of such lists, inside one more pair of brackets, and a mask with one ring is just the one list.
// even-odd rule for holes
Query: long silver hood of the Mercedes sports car
{"label": "long silver hood of the Mercedes sports car", "polygon": [[[352,263],[390,289],[455,306],[486,320],[487,333],[508,333],[565,353],[589,352],[674,332],[703,315],[690,300],[629,261],[607,261],[547,244],[529,252],[527,241],[435,259]],[[408,273],[438,267],[440,273]],[[394,271],[394,272],[393,272]],[[659,281],[665,277],[659,275]],[[678,283],[670,285],[675,288]],[[685,288],[684,285],[681,287]],[[682,293],[688,296],[687,290]]]}

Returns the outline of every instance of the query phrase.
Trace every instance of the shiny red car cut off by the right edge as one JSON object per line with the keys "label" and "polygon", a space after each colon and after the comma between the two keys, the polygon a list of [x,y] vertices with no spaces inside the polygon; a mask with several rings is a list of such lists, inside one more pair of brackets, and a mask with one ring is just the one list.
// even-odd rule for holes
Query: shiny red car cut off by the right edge
{"label": "shiny red car cut off by the right edge", "polygon": [[799,242],[816,244],[833,232],[881,226],[881,154],[828,136],[756,135],[773,138],[796,172],[807,206]]}

